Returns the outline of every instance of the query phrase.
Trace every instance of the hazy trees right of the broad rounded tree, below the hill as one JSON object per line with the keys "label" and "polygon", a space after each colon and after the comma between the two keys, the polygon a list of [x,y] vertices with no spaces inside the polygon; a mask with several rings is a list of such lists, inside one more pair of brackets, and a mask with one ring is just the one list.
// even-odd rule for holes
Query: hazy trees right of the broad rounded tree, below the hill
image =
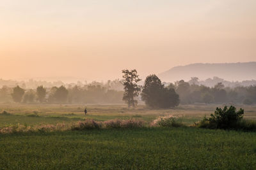
{"label": "hazy trees right of the broad rounded tree, below the hill", "polygon": [[225,87],[223,83],[216,83],[214,87],[200,85],[195,78],[192,81],[184,80],[169,83],[168,87],[175,89],[180,97],[181,104],[255,104],[256,86]]}

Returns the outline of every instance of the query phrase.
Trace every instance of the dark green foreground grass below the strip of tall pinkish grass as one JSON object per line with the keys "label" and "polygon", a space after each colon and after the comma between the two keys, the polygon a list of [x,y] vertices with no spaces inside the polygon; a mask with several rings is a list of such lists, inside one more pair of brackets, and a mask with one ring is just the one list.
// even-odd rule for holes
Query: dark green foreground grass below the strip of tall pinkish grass
{"label": "dark green foreground grass below the strip of tall pinkish grass", "polygon": [[256,133],[196,128],[0,134],[0,169],[255,169]]}

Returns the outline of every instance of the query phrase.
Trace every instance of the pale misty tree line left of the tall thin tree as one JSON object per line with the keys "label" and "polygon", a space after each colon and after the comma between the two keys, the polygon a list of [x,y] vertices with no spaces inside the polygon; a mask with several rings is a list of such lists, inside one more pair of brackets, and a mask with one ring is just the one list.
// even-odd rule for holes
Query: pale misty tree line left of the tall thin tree
{"label": "pale misty tree line left of the tall thin tree", "polygon": [[118,104],[122,103],[123,91],[111,90],[100,85],[84,87],[45,88],[42,85],[36,89],[22,89],[19,87],[3,87],[0,89],[0,102],[15,103],[48,103],[48,104]]}

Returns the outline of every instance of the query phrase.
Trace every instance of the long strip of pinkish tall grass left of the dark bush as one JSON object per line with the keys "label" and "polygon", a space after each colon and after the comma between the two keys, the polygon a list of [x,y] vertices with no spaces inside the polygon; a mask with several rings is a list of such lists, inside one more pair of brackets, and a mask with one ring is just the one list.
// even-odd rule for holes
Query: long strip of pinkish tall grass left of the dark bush
{"label": "long strip of pinkish tall grass left of the dark bush", "polygon": [[184,126],[180,117],[172,115],[166,117],[159,117],[151,124],[143,120],[129,119],[129,120],[106,120],[104,122],[86,119],[79,122],[41,124],[41,125],[9,125],[8,127],[0,128],[0,133],[16,133],[16,132],[54,132],[54,131],[83,131],[88,129],[118,129],[118,128],[140,128],[140,127],[181,127]]}

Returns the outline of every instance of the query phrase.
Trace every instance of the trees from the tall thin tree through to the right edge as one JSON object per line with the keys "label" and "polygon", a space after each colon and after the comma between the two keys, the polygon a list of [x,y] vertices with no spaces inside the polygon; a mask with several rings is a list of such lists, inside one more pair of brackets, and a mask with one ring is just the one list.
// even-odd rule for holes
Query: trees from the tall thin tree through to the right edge
{"label": "trees from the tall thin tree through to the right edge", "polygon": [[188,82],[184,80],[175,83],[162,83],[156,74],[147,76],[143,87],[136,83],[140,81],[136,70],[124,70],[124,97],[128,106],[138,103],[134,97],[139,96],[150,108],[170,108],[181,104],[255,104],[256,85],[249,87],[225,87],[219,82],[214,87],[200,85],[198,78],[193,77]]}

